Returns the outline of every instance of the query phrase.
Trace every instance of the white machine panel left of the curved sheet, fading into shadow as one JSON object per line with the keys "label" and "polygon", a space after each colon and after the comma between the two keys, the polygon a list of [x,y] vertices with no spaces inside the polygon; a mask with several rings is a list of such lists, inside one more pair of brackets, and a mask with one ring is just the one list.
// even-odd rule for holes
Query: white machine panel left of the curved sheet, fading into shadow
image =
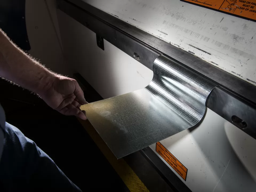
{"label": "white machine panel left of the curved sheet, fading into shadow", "polygon": [[60,10],[57,10],[63,50],[75,72],[104,98],[146,87],[153,71],[141,65],[104,39],[103,51],[96,34]]}

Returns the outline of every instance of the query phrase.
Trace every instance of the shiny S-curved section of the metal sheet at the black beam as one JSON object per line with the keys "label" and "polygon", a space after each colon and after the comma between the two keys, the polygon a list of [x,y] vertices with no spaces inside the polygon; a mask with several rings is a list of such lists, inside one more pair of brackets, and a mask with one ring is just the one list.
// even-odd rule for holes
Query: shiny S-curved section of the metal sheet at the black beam
{"label": "shiny S-curved section of the metal sheet at the black beam", "polygon": [[146,89],[191,126],[197,124],[205,113],[206,99],[215,85],[164,55],[155,59],[153,71],[154,77]]}

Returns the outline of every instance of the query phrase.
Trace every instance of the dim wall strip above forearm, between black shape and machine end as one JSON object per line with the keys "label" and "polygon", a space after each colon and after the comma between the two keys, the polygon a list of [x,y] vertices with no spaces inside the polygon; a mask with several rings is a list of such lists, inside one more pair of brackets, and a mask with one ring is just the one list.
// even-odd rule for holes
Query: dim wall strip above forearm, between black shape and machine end
{"label": "dim wall strip above forearm, between black shape and machine end", "polygon": [[65,61],[54,1],[26,0],[26,27],[29,54],[50,70],[72,77],[73,66]]}

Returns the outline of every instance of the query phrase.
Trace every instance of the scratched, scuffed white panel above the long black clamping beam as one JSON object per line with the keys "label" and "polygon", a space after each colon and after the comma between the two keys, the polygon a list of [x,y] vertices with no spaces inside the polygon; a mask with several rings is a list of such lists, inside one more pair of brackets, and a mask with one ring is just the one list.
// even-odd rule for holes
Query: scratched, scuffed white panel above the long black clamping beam
{"label": "scratched, scuffed white panel above the long black clamping beam", "polygon": [[84,0],[256,85],[256,22],[179,0]]}

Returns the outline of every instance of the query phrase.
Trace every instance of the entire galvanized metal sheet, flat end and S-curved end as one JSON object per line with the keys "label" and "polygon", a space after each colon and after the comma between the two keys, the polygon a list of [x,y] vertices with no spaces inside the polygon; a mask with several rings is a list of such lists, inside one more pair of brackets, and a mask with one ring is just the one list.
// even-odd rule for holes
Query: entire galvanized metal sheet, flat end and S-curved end
{"label": "entire galvanized metal sheet, flat end and S-curved end", "polygon": [[81,107],[117,158],[196,125],[215,85],[160,55],[150,84]]}

